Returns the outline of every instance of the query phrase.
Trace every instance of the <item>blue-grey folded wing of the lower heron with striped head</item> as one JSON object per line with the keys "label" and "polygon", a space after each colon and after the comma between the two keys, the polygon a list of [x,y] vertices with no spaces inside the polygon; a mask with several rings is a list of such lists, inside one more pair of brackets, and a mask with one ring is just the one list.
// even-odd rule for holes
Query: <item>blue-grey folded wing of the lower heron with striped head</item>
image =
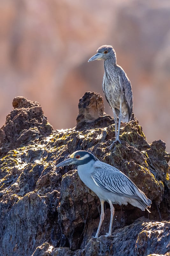
{"label": "blue-grey folded wing of the lower heron with striped head", "polygon": [[142,200],[148,205],[149,199],[123,172],[101,161],[97,161],[93,168],[94,171],[91,177],[99,187],[105,191],[119,194],[120,196]]}

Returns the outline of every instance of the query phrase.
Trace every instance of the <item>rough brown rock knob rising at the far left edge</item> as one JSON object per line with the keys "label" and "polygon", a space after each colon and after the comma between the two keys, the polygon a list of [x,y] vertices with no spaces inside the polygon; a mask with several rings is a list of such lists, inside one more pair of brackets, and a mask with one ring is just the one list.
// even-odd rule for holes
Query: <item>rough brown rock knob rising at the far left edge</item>
{"label": "rough brown rock knob rising at the far left edge", "polygon": [[12,106],[14,109],[0,129],[0,156],[5,156],[11,149],[33,143],[53,131],[38,102],[16,97]]}

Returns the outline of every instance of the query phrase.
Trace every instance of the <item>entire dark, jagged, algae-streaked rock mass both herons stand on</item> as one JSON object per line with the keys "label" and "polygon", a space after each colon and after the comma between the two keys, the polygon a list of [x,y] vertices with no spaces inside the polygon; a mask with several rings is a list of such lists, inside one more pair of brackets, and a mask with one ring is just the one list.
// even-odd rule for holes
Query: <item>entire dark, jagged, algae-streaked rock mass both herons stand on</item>
{"label": "entire dark, jagged, algae-streaked rock mass both herons stand on", "polygon": [[[121,124],[122,144],[113,119],[104,113],[99,94],[87,92],[79,102],[77,125],[53,131],[39,103],[24,97],[0,130],[0,255],[169,255],[170,182],[165,142],[148,144],[133,117]],[[124,172],[152,200],[151,213],[132,205],[115,205],[112,235],[110,207],[100,237],[95,235],[99,198],[80,180],[75,166],[56,164],[75,150],[92,152]]]}

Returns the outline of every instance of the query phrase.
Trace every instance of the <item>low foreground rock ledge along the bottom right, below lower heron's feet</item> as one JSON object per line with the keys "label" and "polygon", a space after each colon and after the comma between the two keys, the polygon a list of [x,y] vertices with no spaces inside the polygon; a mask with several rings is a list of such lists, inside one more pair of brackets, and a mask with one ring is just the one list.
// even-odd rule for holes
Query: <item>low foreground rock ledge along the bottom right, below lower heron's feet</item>
{"label": "low foreground rock ledge along the bottom right, below lower heron's feet", "polygon": [[[104,236],[98,239],[89,238],[85,247],[76,252],[72,252],[68,248],[54,248],[46,243],[38,247],[32,256],[163,255],[160,255],[160,252],[169,255],[169,230],[169,222],[149,222],[145,218],[140,218],[130,226],[117,229],[110,238]],[[148,244],[150,245],[148,246]]]}

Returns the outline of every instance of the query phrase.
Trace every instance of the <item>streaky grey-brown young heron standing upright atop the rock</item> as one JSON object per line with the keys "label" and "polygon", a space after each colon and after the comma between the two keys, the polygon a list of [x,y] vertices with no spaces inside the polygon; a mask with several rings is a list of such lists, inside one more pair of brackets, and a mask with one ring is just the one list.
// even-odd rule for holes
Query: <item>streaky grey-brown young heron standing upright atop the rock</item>
{"label": "streaky grey-brown young heron standing upright atop the rock", "polygon": [[[116,63],[116,52],[110,45],[102,45],[97,53],[89,61],[104,60],[103,92],[110,108],[113,110],[115,120],[115,141],[119,141],[120,124],[131,121],[133,111],[133,95],[131,82],[121,68]],[[117,117],[119,118],[117,131]],[[112,148],[113,143],[110,146]]]}

